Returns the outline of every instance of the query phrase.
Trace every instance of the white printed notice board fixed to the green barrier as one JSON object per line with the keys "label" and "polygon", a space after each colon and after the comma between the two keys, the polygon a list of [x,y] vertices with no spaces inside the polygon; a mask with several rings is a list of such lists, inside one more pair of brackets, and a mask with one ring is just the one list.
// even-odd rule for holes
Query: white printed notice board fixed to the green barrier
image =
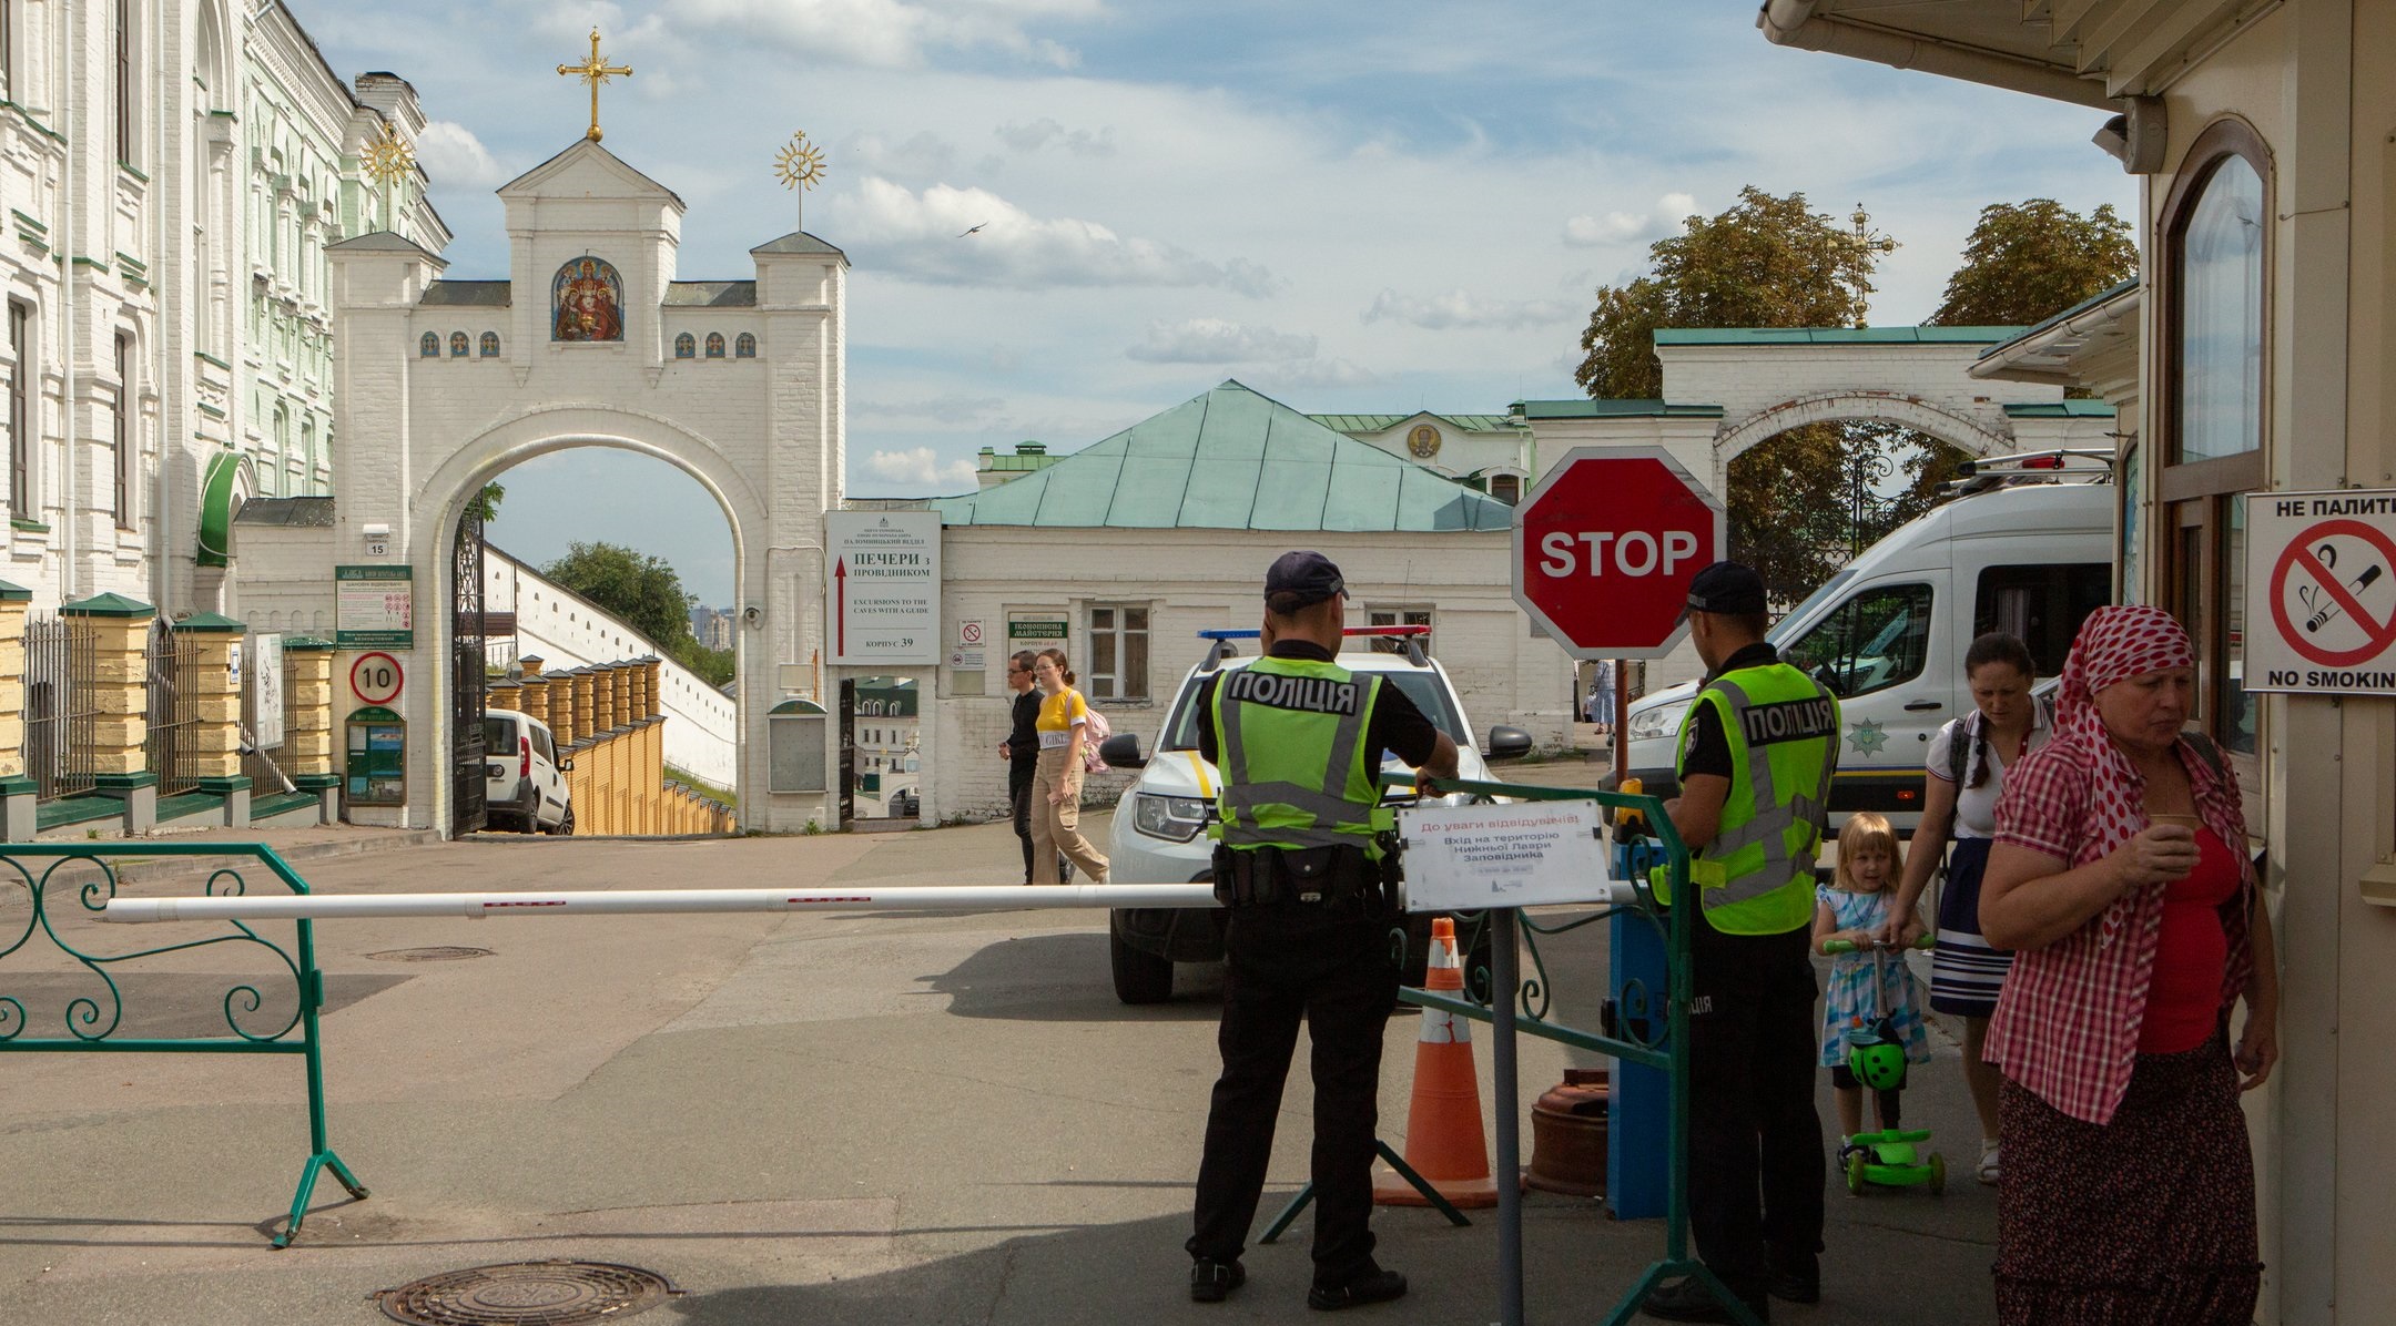
{"label": "white printed notice board fixed to the green barrier", "polygon": [[1421,807],[1397,816],[1409,912],[1608,902],[1598,802]]}

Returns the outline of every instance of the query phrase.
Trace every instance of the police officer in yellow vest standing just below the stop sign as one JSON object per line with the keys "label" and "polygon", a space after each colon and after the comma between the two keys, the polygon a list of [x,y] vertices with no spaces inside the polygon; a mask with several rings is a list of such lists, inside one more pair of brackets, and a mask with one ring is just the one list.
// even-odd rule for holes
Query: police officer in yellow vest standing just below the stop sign
{"label": "police officer in yellow vest standing just below the stop sign", "polygon": [[[1672,828],[1694,854],[1689,1228],[1756,1319],[1821,1300],[1823,1139],[1814,1113],[1814,854],[1838,766],[1838,699],[1763,641],[1763,579],[1713,562],[1689,582],[1706,663],[1680,728]],[[1756,1202],[1761,1192],[1761,1206]],[[1730,1321],[1694,1278],[1648,1316]]]}

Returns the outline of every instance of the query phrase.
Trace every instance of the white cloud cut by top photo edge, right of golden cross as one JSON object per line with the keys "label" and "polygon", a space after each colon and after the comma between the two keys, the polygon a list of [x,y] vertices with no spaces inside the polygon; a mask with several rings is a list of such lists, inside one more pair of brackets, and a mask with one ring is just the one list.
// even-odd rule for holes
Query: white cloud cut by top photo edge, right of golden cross
{"label": "white cloud cut by top photo edge, right of golden cross", "polygon": [[925,62],[930,50],[1002,50],[1035,65],[1071,69],[1081,55],[1033,36],[1037,19],[1088,19],[1100,0],[680,0],[673,19],[781,45],[807,60],[846,60],[882,69]]}

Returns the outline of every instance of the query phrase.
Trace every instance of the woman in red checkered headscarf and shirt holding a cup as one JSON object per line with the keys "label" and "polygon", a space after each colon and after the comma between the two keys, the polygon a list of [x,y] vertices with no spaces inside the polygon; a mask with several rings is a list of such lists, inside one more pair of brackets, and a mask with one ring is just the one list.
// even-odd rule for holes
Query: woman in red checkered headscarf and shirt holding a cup
{"label": "woman in red checkered headscarf and shirt holding a cup", "polygon": [[1986,1048],[2005,1072],[2008,1324],[2255,1319],[2238,1094],[2279,1060],[2279,967],[2238,780],[2180,732],[2192,692],[2195,651],[2171,613],[2099,608],[2063,665],[2056,737],[1996,804],[1979,919],[1989,943],[2020,950]]}

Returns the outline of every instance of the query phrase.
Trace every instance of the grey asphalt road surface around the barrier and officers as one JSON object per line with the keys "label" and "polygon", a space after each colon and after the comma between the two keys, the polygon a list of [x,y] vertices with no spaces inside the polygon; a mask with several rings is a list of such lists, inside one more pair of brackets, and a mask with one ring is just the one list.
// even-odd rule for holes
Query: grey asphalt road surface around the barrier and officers
{"label": "grey asphalt road surface around the barrier and officers", "polygon": [[[424,845],[304,874],[338,893],[1004,883],[1016,862],[1004,826],[978,826]],[[0,931],[19,914],[0,898]],[[1541,945],[1565,1022],[1596,1022],[1601,931]],[[125,933],[108,929],[120,948],[170,941]],[[1097,912],[321,921],[316,950],[331,1142],[371,1197],[326,1180],[300,1245],[268,1249],[307,1158],[297,1058],[0,1056],[0,1321],[369,1324],[383,1319],[374,1290],[546,1257],[659,1271],[685,1292],[642,1319],[709,1326],[1301,1312],[1303,1221],[1251,1249],[1229,1304],[1186,1300],[1220,972],[1184,967],[1174,1003],[1124,1008]],[[261,972],[256,953],[127,967],[127,1027],[220,1027],[225,977]],[[93,984],[31,950],[0,962],[34,1034],[55,1034]],[[268,993],[254,1017],[273,1015]],[[1382,1135],[1397,1146],[1414,1034],[1416,1017],[1392,1020]],[[1476,1053],[1488,1096],[1486,1036]],[[1521,1060],[1524,1111],[1577,1063],[1545,1041],[1524,1041]],[[1267,1211],[1303,1182],[1306,1115],[1301,1068]],[[1917,1070],[1912,1120],[1938,1130],[1958,1182],[1943,1199],[1833,1192],[1828,1300],[1783,1321],[1989,1319],[1993,1197],[1967,1180],[1977,1127],[1950,1044]],[[1382,1211],[1375,1228],[1414,1292],[1361,1319],[1495,1319],[1488,1218],[1452,1230]],[[1531,1321],[1603,1319],[1663,1247],[1656,1221],[1538,1192],[1524,1237]]]}

